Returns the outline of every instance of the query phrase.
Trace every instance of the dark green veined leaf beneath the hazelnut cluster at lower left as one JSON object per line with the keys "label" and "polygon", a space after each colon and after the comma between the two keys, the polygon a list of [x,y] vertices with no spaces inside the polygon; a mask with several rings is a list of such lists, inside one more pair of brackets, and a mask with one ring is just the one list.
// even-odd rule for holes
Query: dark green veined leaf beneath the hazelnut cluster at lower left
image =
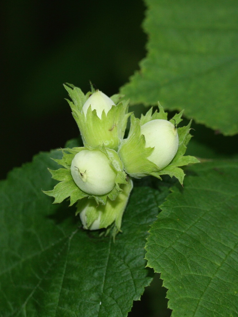
{"label": "dark green veined leaf beneath the hazelnut cluster at lower left", "polygon": [[41,191],[60,155],[41,153],[0,183],[0,316],[126,316],[151,281],[145,238],[168,187],[134,188],[114,243]]}

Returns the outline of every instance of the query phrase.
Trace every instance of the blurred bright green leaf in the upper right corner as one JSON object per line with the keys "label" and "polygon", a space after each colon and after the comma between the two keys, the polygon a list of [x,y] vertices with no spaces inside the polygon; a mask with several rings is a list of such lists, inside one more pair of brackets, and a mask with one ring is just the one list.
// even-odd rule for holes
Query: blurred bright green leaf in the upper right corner
{"label": "blurred bright green leaf in the upper right corner", "polygon": [[146,0],[147,57],[121,93],[131,103],[185,115],[225,135],[238,132],[238,4]]}

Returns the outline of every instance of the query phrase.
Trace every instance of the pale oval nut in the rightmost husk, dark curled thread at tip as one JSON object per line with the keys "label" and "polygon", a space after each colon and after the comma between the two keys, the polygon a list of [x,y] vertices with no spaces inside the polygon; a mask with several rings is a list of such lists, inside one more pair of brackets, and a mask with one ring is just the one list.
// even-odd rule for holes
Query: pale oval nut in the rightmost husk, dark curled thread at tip
{"label": "pale oval nut in the rightmost husk, dark curled thread at tip", "polygon": [[147,159],[160,169],[169,165],[179,146],[175,125],[167,120],[151,120],[141,126],[141,134],[145,136],[145,146],[154,147],[154,151]]}

